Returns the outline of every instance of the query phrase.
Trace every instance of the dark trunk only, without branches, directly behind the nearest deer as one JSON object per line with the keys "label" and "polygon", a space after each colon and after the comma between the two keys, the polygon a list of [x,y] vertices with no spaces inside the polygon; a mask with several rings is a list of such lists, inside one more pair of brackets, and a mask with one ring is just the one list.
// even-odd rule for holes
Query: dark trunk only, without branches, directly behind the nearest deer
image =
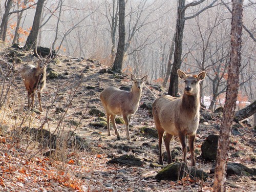
{"label": "dark trunk only, without branches, directly behind the nearest deer", "polygon": [[183,42],[183,30],[185,26],[185,0],[179,0],[178,12],[177,12],[177,24],[175,35],[175,50],[174,50],[174,64],[172,72],[170,73],[170,84],[168,89],[168,95],[174,97],[178,96],[178,69],[181,66],[181,54],[182,54],[182,42]]}

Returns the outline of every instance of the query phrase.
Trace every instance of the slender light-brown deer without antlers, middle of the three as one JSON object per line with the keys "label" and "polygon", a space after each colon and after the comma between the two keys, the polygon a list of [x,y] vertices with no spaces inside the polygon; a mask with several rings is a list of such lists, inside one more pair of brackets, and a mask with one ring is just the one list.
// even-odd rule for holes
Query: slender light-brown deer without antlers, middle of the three
{"label": "slender light-brown deer without antlers, middle of the three", "polygon": [[118,140],[121,138],[116,128],[115,118],[117,115],[123,116],[126,125],[126,139],[130,141],[129,124],[131,116],[138,110],[143,83],[146,81],[147,75],[139,79],[131,74],[131,79],[133,86],[130,92],[115,87],[108,87],[100,93],[100,100],[106,112],[108,136],[111,136],[111,120]]}

